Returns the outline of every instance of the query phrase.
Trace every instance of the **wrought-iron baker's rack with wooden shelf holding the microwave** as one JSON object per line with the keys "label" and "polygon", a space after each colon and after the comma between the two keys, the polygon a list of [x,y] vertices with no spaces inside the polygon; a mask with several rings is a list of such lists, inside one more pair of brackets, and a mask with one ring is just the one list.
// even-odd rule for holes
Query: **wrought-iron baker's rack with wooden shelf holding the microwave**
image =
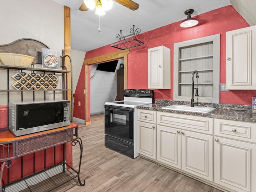
{"label": "wrought-iron baker's rack with wooden shelf holding the microwave", "polygon": [[[37,64],[41,64],[41,49],[49,48],[44,43],[34,40],[34,39],[19,39],[10,44],[0,45],[0,52],[9,52],[17,54],[25,54],[33,56],[35,59],[31,67],[20,67],[20,66],[7,66],[0,65],[0,71],[6,70],[7,72],[7,89],[0,90],[1,92],[7,92],[7,103],[10,102],[10,93],[18,92],[20,93],[20,99],[23,101],[24,93],[32,94],[33,100],[36,100],[35,92],[41,92],[44,94],[44,100],[48,94],[52,95],[55,99],[56,92],[62,93],[62,99],[72,98],[72,82],[71,89],[68,88],[68,74],[71,76],[72,81],[72,61],[70,56],[64,55],[62,50],[61,56],[61,68],[62,69],[48,69],[35,67]],[[67,70],[65,66],[65,58],[70,59],[71,70]],[[10,76],[13,72],[22,72],[22,71],[31,71],[31,72],[42,72],[44,74],[50,72],[52,74],[59,74],[62,76],[62,87],[54,90],[14,90],[10,89]],[[8,105],[8,104],[7,104]],[[70,108],[72,109],[72,102],[70,102]],[[72,110],[71,110],[72,111]],[[71,114],[72,116],[72,114]],[[9,125],[8,125],[9,126]],[[49,138],[50,141],[49,141]],[[53,139],[52,139],[53,138]],[[72,146],[76,144],[80,147],[80,160],[78,170],[70,167],[66,163],[66,143],[72,142]],[[32,145],[31,143],[36,143]],[[62,146],[62,160],[56,160],[56,147]],[[49,168],[46,168],[46,149],[54,148],[54,165]],[[44,151],[44,169],[41,171],[36,171],[35,162],[36,157],[35,153],[38,151]],[[78,136],[78,125],[71,123],[70,126],[63,128],[56,128],[53,130],[43,131],[39,133],[29,134],[26,136],[14,136],[7,128],[2,128],[0,130],[0,192],[18,192],[20,190],[26,192],[50,192],[61,186],[62,184],[78,178],[78,182],[81,186],[85,185],[85,180],[81,182],[80,180],[80,166],[82,160],[82,140]],[[25,163],[23,162],[23,156],[27,154],[33,154],[33,174],[29,176],[23,176],[23,167]],[[14,182],[10,182],[10,167],[12,166],[12,160],[15,158],[21,158],[21,178]],[[51,174],[51,171],[61,167],[60,173],[57,175]],[[3,178],[5,177],[5,179]],[[6,178],[7,177],[7,178]],[[38,180],[38,178],[44,178],[44,180]],[[7,182],[4,182],[7,180]]]}

